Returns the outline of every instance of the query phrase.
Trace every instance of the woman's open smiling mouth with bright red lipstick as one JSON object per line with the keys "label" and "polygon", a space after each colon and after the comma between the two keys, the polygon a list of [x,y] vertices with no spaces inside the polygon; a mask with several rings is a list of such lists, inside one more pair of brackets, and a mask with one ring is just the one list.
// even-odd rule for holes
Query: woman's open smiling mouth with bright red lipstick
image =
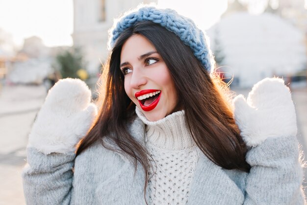
{"label": "woman's open smiling mouth with bright red lipstick", "polygon": [[135,93],[135,97],[144,111],[153,110],[157,106],[160,96],[161,90],[155,89],[141,90]]}

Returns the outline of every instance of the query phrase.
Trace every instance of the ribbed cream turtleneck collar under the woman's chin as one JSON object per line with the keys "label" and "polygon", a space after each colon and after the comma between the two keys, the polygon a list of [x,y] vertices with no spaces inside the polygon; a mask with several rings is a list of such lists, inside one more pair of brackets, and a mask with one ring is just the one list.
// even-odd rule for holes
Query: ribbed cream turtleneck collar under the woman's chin
{"label": "ribbed cream turtleneck collar under the woman's chin", "polygon": [[147,145],[164,150],[182,150],[196,146],[185,122],[183,110],[157,121],[149,121],[138,107],[135,108],[135,112],[146,124]]}

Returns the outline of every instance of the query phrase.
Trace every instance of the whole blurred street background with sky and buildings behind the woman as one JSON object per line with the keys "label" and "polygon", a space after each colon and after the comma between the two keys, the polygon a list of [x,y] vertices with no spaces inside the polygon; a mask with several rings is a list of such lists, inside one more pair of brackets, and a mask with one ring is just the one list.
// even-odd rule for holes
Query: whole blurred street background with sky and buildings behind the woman
{"label": "whole blurred street background with sky and buildings behind the woman", "polygon": [[307,0],[0,0],[0,205],[26,205],[27,138],[48,90],[61,78],[79,78],[95,98],[108,29],[141,2],[193,19],[237,94],[247,96],[265,77],[283,78],[307,151]]}

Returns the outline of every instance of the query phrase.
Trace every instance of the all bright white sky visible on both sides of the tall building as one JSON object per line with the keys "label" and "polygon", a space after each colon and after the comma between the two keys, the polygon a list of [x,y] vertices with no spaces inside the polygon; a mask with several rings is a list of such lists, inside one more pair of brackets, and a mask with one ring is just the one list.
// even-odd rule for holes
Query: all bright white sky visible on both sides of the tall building
{"label": "all bright white sky visible on both sides of the tall building", "polygon": [[[188,3],[187,3],[188,2]],[[208,29],[227,8],[227,0],[158,0]],[[38,36],[46,46],[72,46],[73,0],[0,0],[0,29],[22,46],[24,38]]]}

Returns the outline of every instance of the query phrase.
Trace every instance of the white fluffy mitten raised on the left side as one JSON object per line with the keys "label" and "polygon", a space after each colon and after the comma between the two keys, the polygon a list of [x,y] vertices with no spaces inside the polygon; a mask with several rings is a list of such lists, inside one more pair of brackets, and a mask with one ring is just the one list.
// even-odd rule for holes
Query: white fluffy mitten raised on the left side
{"label": "white fluffy mitten raised on the left side", "polygon": [[58,81],[36,117],[28,147],[44,154],[74,152],[97,115],[96,106],[90,102],[91,91],[83,81]]}

